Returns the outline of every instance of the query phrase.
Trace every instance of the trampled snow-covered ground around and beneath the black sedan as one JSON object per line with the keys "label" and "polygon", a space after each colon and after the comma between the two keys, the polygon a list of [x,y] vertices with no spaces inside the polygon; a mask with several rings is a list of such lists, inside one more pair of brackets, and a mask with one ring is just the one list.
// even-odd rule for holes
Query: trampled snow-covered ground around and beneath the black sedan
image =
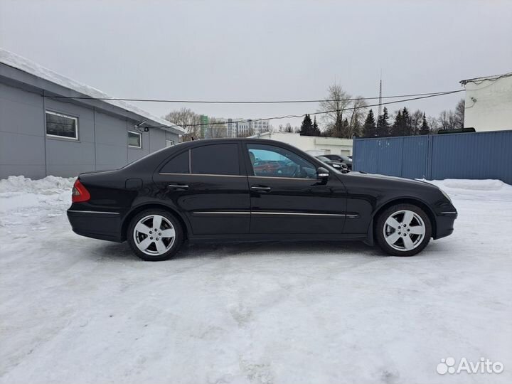
{"label": "trampled snow-covered ground around and beneath the black sedan", "polygon": [[[81,238],[73,179],[0,181],[0,383],[511,383],[512,187],[420,255],[359,243],[192,245],[142,262]],[[439,375],[442,358],[503,373]]]}

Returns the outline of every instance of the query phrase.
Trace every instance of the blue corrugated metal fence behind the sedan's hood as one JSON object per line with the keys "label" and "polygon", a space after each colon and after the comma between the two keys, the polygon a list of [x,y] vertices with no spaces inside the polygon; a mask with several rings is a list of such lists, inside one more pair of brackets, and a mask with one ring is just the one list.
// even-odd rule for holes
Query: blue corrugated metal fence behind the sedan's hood
{"label": "blue corrugated metal fence behind the sedan's hood", "polygon": [[512,130],[358,138],[353,169],[406,178],[497,178],[512,184]]}

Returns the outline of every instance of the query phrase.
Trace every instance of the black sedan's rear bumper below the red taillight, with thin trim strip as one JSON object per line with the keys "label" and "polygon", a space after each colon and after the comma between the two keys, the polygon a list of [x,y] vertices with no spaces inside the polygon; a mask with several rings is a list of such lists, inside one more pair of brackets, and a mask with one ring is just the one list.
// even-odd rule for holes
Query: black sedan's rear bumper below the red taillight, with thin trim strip
{"label": "black sedan's rear bumper below the red taillight, with thin trim strip", "polygon": [[77,235],[122,242],[121,220],[117,212],[68,209],[68,220]]}

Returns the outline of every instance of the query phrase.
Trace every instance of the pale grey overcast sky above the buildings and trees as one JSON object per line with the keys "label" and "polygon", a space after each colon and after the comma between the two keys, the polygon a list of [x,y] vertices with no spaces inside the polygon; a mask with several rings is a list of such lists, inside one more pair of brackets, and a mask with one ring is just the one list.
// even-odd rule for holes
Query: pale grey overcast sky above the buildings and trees
{"label": "pale grey overcast sky above the buildings and trees", "polygon": [[[512,1],[0,0],[0,46],[115,97],[319,99],[335,80],[373,97],[381,70],[383,95],[437,92],[512,71]],[[462,96],[404,105],[437,115]],[[183,106],[137,105],[159,116]],[[317,110],[188,107],[235,118]]]}

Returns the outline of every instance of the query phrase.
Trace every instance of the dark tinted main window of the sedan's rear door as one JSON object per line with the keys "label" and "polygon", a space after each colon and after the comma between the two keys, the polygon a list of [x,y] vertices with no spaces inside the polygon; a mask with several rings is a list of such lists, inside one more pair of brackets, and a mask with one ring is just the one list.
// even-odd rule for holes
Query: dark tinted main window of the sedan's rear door
{"label": "dark tinted main window of the sedan's rear door", "polygon": [[191,150],[193,174],[240,175],[238,144],[212,144]]}

